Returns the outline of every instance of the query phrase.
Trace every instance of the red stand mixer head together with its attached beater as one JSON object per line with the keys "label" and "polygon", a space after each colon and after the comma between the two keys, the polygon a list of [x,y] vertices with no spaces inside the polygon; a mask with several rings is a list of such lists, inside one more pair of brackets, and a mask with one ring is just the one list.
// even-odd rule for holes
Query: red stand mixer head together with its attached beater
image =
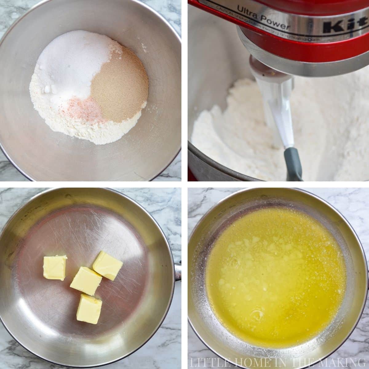
{"label": "red stand mixer head together with its attached beater", "polygon": [[273,146],[282,141],[285,149],[287,180],[302,180],[289,104],[293,75],[334,76],[369,64],[367,0],[188,2],[238,25],[239,38],[251,54],[266,124],[274,132]]}

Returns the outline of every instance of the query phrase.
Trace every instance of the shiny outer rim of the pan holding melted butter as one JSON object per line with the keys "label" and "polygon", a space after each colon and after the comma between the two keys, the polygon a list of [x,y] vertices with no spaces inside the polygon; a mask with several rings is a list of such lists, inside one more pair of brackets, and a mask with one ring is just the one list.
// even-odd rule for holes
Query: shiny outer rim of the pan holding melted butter
{"label": "shiny outer rim of the pan holding melted butter", "polygon": [[[361,310],[360,310],[360,313],[358,314],[358,317],[356,318],[356,321],[355,323],[352,325],[352,328],[351,330],[348,332],[348,334],[346,335],[346,337],[339,343],[339,345],[337,345],[337,347],[332,350],[331,352],[329,352],[327,355],[324,355],[322,358],[320,359],[317,359],[316,361],[314,361],[313,363],[309,363],[309,365],[302,365],[302,366],[299,366],[299,367],[296,367],[294,369],[304,369],[304,368],[309,368],[310,366],[313,366],[314,364],[318,363],[318,362],[321,362],[323,360],[325,360],[326,358],[328,358],[328,356],[332,355],[335,351],[337,351],[346,341],[347,339],[349,338],[349,336],[352,334],[352,332],[355,330],[356,326],[358,325],[359,323],[359,320],[361,319],[362,317],[362,314],[363,314],[363,311],[364,311],[364,308],[365,308],[365,304],[366,304],[366,299],[368,297],[368,262],[366,261],[366,255],[365,255],[365,251],[364,251],[364,248],[363,248],[363,245],[361,244],[361,241],[358,237],[358,235],[356,234],[354,228],[352,227],[352,225],[349,223],[349,221],[344,217],[343,214],[341,214],[340,211],[338,211],[334,206],[332,206],[330,203],[328,203],[328,201],[322,199],[321,197],[315,195],[314,193],[311,193],[311,192],[308,192],[306,190],[303,190],[303,189],[300,189],[300,188],[296,188],[296,187],[255,187],[255,188],[247,188],[247,189],[241,189],[241,190],[238,190],[234,193],[231,193],[230,195],[224,197],[223,199],[221,199],[220,201],[218,201],[217,203],[215,203],[201,218],[200,220],[196,223],[195,227],[193,228],[192,232],[191,232],[191,235],[190,235],[190,238],[189,238],[189,241],[188,241],[188,244],[190,244],[191,242],[191,239],[194,235],[194,233],[196,232],[197,228],[200,226],[200,224],[204,221],[204,219],[211,213],[211,211],[213,211],[216,207],[218,207],[220,204],[228,201],[231,197],[233,196],[237,196],[238,194],[240,193],[243,193],[243,192],[246,192],[246,191],[254,191],[254,190],[260,190],[260,189],[265,189],[265,188],[276,188],[276,189],[283,189],[283,190],[287,190],[287,191],[294,191],[294,192],[301,192],[301,193],[304,193],[306,194],[307,196],[311,196],[311,197],[314,197],[316,200],[320,201],[321,203],[325,204],[326,206],[328,206],[328,208],[331,209],[331,211],[334,211],[343,221],[344,223],[346,224],[346,226],[348,226],[349,230],[352,232],[352,234],[354,235],[354,238],[356,239],[356,242],[358,243],[359,245],[359,249],[361,251],[361,256],[363,258],[363,261],[364,261],[364,266],[365,266],[365,285],[367,286],[366,289],[365,289],[365,296],[364,296],[364,299],[363,299],[363,302],[362,302],[362,306],[361,306]],[[190,266],[190,263],[191,261],[189,261],[187,263],[187,267],[189,268]],[[187,273],[189,273],[187,271]],[[189,291],[189,287],[187,289]],[[188,306],[188,303],[187,303],[187,306]],[[215,355],[219,356],[221,359],[223,359],[224,361],[228,362],[228,363],[231,363],[232,365],[236,366],[237,368],[242,368],[242,369],[248,369],[246,366],[241,366],[237,363],[234,363],[232,361],[229,361],[227,358],[225,358],[224,356],[218,354],[217,351],[215,351],[215,349],[211,348],[210,344],[207,344],[207,342],[205,342],[205,340],[200,336],[199,332],[197,332],[196,328],[194,327],[194,325],[192,324],[192,321],[191,321],[191,318],[190,318],[190,315],[188,314],[187,316],[187,320],[188,320],[188,323],[190,325],[190,327],[192,328],[192,330],[194,331],[194,333],[196,334],[196,336],[200,339],[200,341],[208,348],[210,349],[210,351],[212,351]]]}

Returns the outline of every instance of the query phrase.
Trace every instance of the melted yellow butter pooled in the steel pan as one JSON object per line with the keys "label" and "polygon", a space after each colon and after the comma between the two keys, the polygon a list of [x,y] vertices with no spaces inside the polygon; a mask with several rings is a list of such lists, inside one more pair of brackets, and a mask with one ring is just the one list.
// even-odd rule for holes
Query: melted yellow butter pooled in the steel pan
{"label": "melted yellow butter pooled in the steel pan", "polygon": [[341,306],[345,286],[345,262],[332,234],[288,208],[234,221],[207,261],[207,296],[218,320],[259,347],[285,348],[318,335]]}

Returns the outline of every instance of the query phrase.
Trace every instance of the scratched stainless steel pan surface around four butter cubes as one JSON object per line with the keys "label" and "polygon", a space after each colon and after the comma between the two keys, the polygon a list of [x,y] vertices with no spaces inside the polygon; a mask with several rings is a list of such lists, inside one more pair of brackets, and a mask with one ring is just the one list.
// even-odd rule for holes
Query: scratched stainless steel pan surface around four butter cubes
{"label": "scratched stainless steel pan surface around four butter cubes", "polygon": [[[81,292],[69,287],[100,250],[123,261],[103,278],[99,322],[76,320]],[[43,257],[67,255],[64,281],[43,277]],[[140,348],[172,301],[175,270],[154,218],[108,189],[55,189],[20,208],[0,235],[0,316],[8,332],[47,361],[79,368],[117,361]]]}

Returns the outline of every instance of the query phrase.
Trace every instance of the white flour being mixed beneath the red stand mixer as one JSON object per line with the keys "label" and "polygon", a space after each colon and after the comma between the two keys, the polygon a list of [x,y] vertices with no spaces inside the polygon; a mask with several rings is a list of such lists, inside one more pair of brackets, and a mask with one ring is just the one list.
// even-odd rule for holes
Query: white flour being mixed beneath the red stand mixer
{"label": "white flour being mixed beneath the red stand mixer", "polygon": [[[369,179],[369,68],[327,78],[295,78],[291,96],[295,146],[304,180]],[[229,91],[227,109],[202,111],[192,143],[239,173],[263,180],[286,180],[283,148],[272,147],[261,93],[248,79]]]}

